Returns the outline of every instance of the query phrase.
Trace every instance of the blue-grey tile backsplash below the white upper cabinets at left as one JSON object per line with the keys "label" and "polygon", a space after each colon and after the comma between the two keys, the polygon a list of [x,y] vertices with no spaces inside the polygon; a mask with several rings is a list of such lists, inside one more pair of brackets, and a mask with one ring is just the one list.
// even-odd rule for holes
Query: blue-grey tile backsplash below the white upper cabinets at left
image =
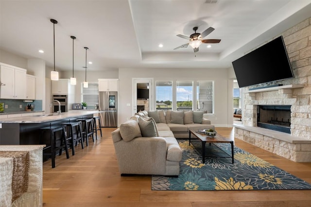
{"label": "blue-grey tile backsplash below the white upper cabinets at left", "polygon": [[[34,100],[34,102],[24,102],[24,100],[19,99],[0,99],[0,103],[4,103],[3,112],[19,112],[25,111],[28,104],[32,104],[34,108],[33,111],[42,111],[42,100]],[[7,105],[7,109],[5,106]],[[19,107],[21,105],[21,108]]]}

